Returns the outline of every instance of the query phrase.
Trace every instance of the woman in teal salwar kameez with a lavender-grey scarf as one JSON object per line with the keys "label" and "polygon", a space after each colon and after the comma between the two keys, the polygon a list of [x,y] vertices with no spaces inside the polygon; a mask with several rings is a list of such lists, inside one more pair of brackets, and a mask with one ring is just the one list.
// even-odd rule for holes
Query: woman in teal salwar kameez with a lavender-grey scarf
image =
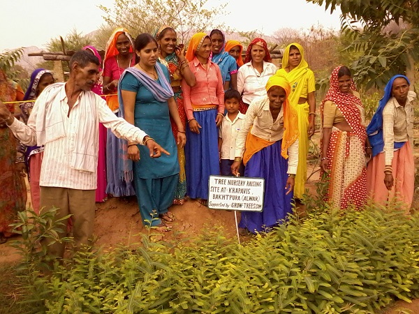
{"label": "woman in teal salwar kameez with a lavender-grey scarf", "polygon": [[[126,149],[126,153],[122,153],[121,168],[126,176],[133,173],[135,194],[144,225],[168,231],[170,227],[166,223],[174,219],[168,207],[175,198],[179,176],[177,143],[183,146],[186,137],[173,99],[168,69],[156,63],[156,40],[149,34],[141,34],[135,40],[135,52],[140,61],[126,69],[119,81],[118,91],[122,98],[120,110],[124,111],[126,121],[141,126],[170,155],[162,154],[154,159],[147,147],[123,142],[122,151]],[[170,117],[178,128],[176,141]],[[133,167],[130,166],[131,160],[134,161]]]}

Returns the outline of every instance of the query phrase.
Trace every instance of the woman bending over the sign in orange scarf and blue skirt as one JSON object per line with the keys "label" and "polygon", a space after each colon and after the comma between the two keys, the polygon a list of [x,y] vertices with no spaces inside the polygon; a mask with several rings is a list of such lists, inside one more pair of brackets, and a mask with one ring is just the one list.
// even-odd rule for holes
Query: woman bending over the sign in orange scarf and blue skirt
{"label": "woman bending over the sign in orange scarf and blue skirt", "polygon": [[269,231],[291,213],[299,133],[297,112],[288,103],[290,90],[285,77],[272,75],[267,96],[251,102],[237,135],[233,174],[243,158],[244,177],[265,179],[263,212],[242,211],[239,227],[252,233]]}

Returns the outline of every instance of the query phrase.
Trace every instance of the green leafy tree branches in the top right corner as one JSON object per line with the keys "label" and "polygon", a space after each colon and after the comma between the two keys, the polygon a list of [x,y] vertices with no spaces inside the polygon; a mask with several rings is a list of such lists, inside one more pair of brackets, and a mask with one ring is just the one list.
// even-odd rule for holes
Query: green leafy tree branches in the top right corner
{"label": "green leafy tree branches in the top right corner", "polygon": [[414,82],[419,60],[419,0],[307,0],[330,12],[340,6],[346,50],[362,55],[353,62],[357,83],[383,87],[397,73]]}

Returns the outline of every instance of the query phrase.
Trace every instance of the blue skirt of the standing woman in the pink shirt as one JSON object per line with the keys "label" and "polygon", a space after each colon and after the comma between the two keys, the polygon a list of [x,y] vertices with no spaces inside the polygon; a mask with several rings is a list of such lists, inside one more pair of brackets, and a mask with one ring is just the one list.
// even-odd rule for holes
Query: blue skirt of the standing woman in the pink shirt
{"label": "blue skirt of the standing woman in the pink shirt", "polygon": [[202,126],[200,133],[186,128],[185,171],[187,195],[191,198],[208,199],[210,175],[220,174],[218,154],[218,131],[215,124],[216,110],[193,112],[193,117]]}

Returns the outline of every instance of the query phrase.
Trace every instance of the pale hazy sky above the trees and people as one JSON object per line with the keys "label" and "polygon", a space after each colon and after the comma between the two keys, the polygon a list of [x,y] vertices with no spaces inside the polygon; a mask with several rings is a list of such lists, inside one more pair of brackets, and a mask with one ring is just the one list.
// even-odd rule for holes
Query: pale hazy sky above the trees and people
{"label": "pale hazy sky above the trees and people", "polygon": [[[305,0],[209,0],[208,4],[217,6],[226,1],[226,12],[230,14],[219,20],[237,31],[257,30],[272,35],[281,28],[308,29],[322,24],[339,29],[340,25],[339,12],[331,15],[330,10],[325,12],[324,7]],[[13,0],[6,3],[0,11],[3,30],[0,52],[33,45],[42,48],[51,38],[64,37],[74,28],[90,33],[104,23],[104,13],[98,6],[112,8],[114,0]]]}

